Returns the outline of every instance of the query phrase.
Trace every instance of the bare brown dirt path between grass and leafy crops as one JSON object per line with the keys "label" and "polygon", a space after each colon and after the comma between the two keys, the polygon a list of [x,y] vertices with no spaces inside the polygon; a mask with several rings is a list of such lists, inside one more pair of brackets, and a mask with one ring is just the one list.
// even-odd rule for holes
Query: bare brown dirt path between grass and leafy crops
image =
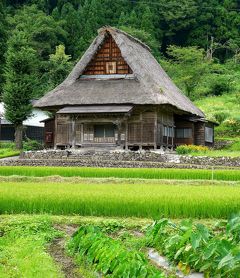
{"label": "bare brown dirt path between grass and leafy crops", "polygon": [[[77,227],[70,225],[55,225],[54,228],[65,232],[68,236],[72,236],[77,230]],[[65,241],[65,238],[54,239],[48,248],[48,252],[60,266],[65,277],[80,278],[81,276],[77,273],[77,266],[75,265],[73,259],[66,254]]]}

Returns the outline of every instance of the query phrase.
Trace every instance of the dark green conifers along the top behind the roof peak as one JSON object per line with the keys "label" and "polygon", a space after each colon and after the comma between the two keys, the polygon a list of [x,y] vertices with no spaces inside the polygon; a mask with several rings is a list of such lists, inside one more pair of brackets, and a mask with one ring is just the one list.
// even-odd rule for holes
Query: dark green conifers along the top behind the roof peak
{"label": "dark green conifers along the top behind the roof peak", "polygon": [[102,25],[124,25],[148,32],[164,53],[170,44],[207,49],[213,37],[221,45],[215,54],[224,60],[240,43],[238,0],[7,1],[8,9],[14,13],[24,4],[36,4],[39,12],[65,21],[62,26],[67,33],[66,49],[74,59]]}

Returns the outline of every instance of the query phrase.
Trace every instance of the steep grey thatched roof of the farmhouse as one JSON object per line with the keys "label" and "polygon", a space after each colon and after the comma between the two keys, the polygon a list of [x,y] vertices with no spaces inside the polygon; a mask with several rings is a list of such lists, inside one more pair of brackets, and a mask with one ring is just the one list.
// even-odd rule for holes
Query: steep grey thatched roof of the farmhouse
{"label": "steep grey thatched roof of the farmhouse", "polygon": [[[81,79],[81,74],[109,34],[132,69],[134,78]],[[34,106],[49,109],[94,104],[168,104],[178,110],[204,117],[203,112],[172,82],[148,46],[112,27],[99,30],[98,36],[65,81],[39,99]]]}

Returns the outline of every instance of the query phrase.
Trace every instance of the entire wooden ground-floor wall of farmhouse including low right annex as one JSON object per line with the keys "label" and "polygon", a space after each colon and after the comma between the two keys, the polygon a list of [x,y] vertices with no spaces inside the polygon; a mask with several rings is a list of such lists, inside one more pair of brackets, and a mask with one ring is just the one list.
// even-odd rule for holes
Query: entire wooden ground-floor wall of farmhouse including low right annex
{"label": "entire wooden ground-floor wall of farmhouse including low right annex", "polygon": [[[110,126],[111,135],[97,136],[96,126]],[[182,144],[206,145],[204,122],[193,122],[166,109],[136,106],[130,115],[57,114],[55,138],[57,146],[121,144],[128,147],[173,147]],[[212,127],[212,125],[209,125]],[[47,131],[47,129],[46,129]],[[50,132],[50,130],[49,130]],[[49,142],[51,145],[52,142]],[[213,142],[208,142],[212,146]]]}

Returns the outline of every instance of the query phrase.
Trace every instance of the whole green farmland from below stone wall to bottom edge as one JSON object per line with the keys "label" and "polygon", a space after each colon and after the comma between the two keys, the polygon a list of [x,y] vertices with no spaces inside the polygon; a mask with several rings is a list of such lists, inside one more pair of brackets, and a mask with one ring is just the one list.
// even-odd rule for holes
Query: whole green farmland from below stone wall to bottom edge
{"label": "whole green farmland from below stone wall to bottom edge", "polygon": [[0,167],[0,277],[238,277],[239,214],[237,169]]}

